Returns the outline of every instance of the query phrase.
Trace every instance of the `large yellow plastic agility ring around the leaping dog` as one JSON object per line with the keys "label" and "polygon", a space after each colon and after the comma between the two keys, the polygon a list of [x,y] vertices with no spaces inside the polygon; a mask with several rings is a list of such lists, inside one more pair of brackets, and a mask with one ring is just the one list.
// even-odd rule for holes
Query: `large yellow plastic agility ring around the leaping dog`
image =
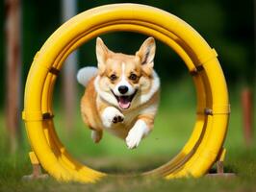
{"label": "large yellow plastic agility ring around the leaping dog", "polygon": [[217,53],[180,18],[138,4],[114,4],[82,12],[64,23],[38,51],[26,88],[23,119],[32,150],[42,167],[57,180],[93,182],[108,174],[90,169],[66,152],[53,122],[52,95],[66,57],[95,36],[129,31],[154,36],[184,60],[196,88],[196,120],[181,152],[163,166],[142,176],[166,179],[200,177],[222,150],[229,102]]}

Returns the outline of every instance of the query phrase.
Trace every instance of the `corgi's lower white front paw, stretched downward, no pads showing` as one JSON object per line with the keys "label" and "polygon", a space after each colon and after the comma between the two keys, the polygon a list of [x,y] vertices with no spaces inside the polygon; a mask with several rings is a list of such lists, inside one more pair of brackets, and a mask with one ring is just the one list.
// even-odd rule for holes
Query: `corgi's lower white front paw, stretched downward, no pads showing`
{"label": "corgi's lower white front paw, stretched downward, no pads showing", "polygon": [[146,136],[150,130],[143,120],[138,120],[134,127],[128,132],[126,137],[126,144],[129,149],[137,148],[141,142],[141,139]]}

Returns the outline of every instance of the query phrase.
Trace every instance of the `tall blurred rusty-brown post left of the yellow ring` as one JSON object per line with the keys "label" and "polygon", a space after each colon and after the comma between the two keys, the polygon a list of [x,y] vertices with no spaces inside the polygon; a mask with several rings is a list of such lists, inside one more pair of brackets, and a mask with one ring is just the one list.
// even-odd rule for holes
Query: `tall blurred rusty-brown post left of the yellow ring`
{"label": "tall blurred rusty-brown post left of the yellow ring", "polygon": [[11,152],[20,140],[20,1],[6,0],[6,127],[10,136]]}

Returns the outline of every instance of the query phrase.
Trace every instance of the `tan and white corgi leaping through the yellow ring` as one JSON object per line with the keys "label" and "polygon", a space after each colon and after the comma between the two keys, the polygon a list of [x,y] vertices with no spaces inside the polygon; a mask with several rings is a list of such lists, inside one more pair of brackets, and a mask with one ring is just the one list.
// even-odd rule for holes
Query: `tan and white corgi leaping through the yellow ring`
{"label": "tan and white corgi leaping through the yellow ring", "polygon": [[86,86],[81,99],[83,121],[98,143],[103,131],[137,148],[154,126],[160,96],[160,79],[154,71],[155,39],[148,37],[135,55],[115,53],[96,39],[96,67],[84,67],[77,80]]}

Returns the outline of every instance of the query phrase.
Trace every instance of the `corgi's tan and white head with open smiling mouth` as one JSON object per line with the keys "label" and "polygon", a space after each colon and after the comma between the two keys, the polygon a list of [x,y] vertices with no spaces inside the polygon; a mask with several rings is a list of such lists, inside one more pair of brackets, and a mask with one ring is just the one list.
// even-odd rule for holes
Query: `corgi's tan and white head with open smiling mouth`
{"label": "corgi's tan and white head with open smiling mouth", "polygon": [[120,109],[134,108],[147,102],[159,88],[159,80],[153,70],[155,50],[153,37],[147,38],[135,55],[114,53],[98,37],[95,87],[99,95]]}

